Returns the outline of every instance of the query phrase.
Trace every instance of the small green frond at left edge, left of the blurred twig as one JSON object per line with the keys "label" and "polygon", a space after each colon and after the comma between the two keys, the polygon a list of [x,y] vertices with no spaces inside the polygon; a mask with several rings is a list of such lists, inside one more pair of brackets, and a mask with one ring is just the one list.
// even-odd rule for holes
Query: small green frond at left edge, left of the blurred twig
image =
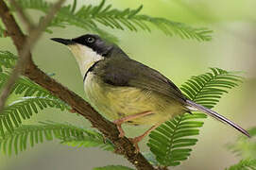
{"label": "small green frond at left edge, left of the blurred twig", "polygon": [[[1,34],[1,27],[0,27]],[[15,61],[18,58],[11,54],[9,51],[0,51],[0,72],[3,72],[4,68],[12,68],[15,64]]]}

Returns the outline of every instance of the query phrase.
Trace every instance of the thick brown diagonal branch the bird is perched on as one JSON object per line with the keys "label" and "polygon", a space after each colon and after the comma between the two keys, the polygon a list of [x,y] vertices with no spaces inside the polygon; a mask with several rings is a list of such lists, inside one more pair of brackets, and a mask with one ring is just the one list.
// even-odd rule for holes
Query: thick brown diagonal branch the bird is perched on
{"label": "thick brown diagonal branch the bird is perched on", "polygon": [[[3,0],[0,0],[0,17],[7,27],[10,37],[20,54],[23,43],[26,41],[26,36],[15,22],[13,16],[9,12],[9,8]],[[55,79],[43,73],[43,71],[40,70],[30,58],[30,53],[28,53],[28,56],[26,69],[23,73],[24,76],[27,76],[31,80],[43,86],[43,88],[60,97],[61,100],[69,104],[74,110],[77,110],[77,113],[88,119],[92,123],[93,127],[96,127],[105,135],[105,137],[109,138],[111,142],[115,144],[117,153],[124,155],[137,169],[154,170],[153,166],[145,160],[141,153],[135,152],[135,147],[130,143],[128,138],[118,137],[119,132],[114,124],[102,117],[76,93],[68,90]]]}

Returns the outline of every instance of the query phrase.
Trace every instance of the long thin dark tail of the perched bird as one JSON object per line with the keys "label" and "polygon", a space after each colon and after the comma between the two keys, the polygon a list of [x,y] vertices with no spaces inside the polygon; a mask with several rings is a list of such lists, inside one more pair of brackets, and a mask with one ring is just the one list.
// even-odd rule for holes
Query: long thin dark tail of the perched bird
{"label": "long thin dark tail of the perched bird", "polygon": [[198,105],[196,104],[195,102],[191,101],[191,100],[186,100],[187,104],[189,105],[189,109],[191,109],[191,107],[193,109],[196,109],[196,110],[200,110],[200,111],[203,111],[204,113],[207,113],[208,115],[212,116],[213,118],[223,122],[223,123],[226,123],[228,125],[230,125],[231,127],[234,127],[236,128],[237,130],[239,130],[240,132],[244,133],[245,135],[247,135],[247,137],[250,137],[247,130],[245,130],[244,128],[236,125],[235,123],[233,123],[232,121],[230,121],[229,119],[227,119],[226,117],[218,114],[217,112],[213,111],[213,110],[210,110],[210,109],[207,109],[201,105]]}

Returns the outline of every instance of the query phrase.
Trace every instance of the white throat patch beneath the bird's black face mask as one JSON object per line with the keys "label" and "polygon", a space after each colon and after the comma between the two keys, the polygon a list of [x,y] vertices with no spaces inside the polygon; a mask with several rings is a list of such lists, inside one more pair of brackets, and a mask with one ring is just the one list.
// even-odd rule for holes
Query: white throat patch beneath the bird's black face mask
{"label": "white throat patch beneath the bird's black face mask", "polygon": [[82,76],[85,75],[85,73],[94,65],[96,61],[104,59],[104,57],[98,55],[93,49],[85,45],[75,43],[69,45],[68,47],[77,59]]}

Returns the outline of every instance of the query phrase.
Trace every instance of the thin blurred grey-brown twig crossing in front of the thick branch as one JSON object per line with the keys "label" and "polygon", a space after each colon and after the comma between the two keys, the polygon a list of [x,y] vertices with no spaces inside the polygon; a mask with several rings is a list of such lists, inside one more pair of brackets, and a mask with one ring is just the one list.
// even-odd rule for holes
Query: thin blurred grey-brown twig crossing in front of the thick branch
{"label": "thin blurred grey-brown twig crossing in front of the thick branch", "polygon": [[[14,2],[14,1],[13,1]],[[39,40],[41,35],[43,34],[43,30],[46,28],[46,26],[52,21],[54,18],[55,13],[58,11],[58,9],[61,7],[64,0],[59,0],[49,11],[49,13],[46,15],[46,17],[43,19],[43,21],[39,24],[39,26],[35,27],[30,35],[29,38],[26,39],[26,43],[20,53],[20,59],[18,60],[17,64],[15,65],[11,75],[9,76],[9,80],[7,84],[5,85],[5,88],[3,89],[1,96],[0,96],[0,112],[5,107],[5,103],[7,101],[7,98],[9,96],[9,92],[16,82],[17,78],[20,76],[21,72],[26,66],[26,62],[28,61],[30,55],[30,50],[33,48],[35,43]],[[23,12],[21,12],[23,13]],[[28,24],[28,23],[27,23]],[[28,24],[29,27],[30,24]]]}

